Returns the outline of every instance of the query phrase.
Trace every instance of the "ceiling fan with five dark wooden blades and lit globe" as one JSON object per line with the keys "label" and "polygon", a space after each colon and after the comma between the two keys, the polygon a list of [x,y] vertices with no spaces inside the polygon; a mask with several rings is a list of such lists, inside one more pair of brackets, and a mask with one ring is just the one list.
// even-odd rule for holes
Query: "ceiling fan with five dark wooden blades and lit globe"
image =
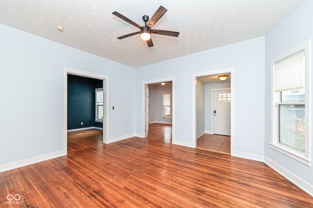
{"label": "ceiling fan with five dark wooden blades and lit globe", "polygon": [[153,27],[153,25],[156,24],[157,21],[159,21],[161,19],[161,17],[166,13],[167,9],[165,9],[163,6],[160,6],[155,14],[152,16],[152,18],[149,20],[149,17],[147,15],[142,16],[142,20],[145,22],[145,26],[140,26],[139,24],[135,23],[134,21],[131,21],[130,19],[128,19],[127,17],[121,15],[118,12],[113,12],[112,14],[115,15],[116,17],[127,21],[128,23],[134,25],[135,27],[139,28],[140,31],[138,32],[134,32],[131,34],[127,34],[127,35],[123,35],[121,37],[118,37],[117,39],[121,40],[124,38],[128,38],[137,34],[140,34],[141,39],[147,41],[148,46],[152,47],[153,46],[153,42],[151,39],[151,34],[157,34],[157,35],[166,35],[166,36],[174,36],[174,37],[178,37],[179,32],[173,32],[173,31],[167,31],[167,30],[154,30],[151,29]]}

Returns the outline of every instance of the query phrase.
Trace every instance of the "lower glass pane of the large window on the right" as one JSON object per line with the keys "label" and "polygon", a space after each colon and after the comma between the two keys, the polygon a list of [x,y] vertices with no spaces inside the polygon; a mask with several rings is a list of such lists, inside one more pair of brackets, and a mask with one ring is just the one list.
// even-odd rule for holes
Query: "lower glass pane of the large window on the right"
{"label": "lower glass pane of the large window on the right", "polygon": [[305,105],[279,105],[279,143],[305,151]]}

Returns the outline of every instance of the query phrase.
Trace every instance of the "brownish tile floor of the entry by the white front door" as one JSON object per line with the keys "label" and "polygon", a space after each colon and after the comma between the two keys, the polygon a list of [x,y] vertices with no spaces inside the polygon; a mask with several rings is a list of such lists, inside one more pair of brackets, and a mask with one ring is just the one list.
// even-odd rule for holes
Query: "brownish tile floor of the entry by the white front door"
{"label": "brownish tile floor of the entry by the white front door", "polygon": [[230,136],[203,134],[197,139],[197,148],[230,155]]}

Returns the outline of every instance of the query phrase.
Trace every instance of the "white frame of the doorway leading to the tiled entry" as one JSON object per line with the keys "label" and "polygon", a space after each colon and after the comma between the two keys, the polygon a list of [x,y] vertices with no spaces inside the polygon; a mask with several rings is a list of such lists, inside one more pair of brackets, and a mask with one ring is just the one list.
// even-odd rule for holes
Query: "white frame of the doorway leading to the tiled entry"
{"label": "white frame of the doorway leading to the tiled entry", "polygon": [[192,74],[192,146],[197,147],[197,78],[202,76],[210,76],[216,74],[231,74],[231,104],[230,104],[230,155],[233,155],[235,150],[235,68],[217,69],[212,71],[204,71]]}

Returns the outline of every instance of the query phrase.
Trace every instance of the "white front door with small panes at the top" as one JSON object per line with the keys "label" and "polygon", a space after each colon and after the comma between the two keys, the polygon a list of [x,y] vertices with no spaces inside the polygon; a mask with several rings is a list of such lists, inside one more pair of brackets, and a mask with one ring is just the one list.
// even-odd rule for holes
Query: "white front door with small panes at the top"
{"label": "white front door with small panes at the top", "polygon": [[230,136],[230,90],[213,92],[213,133]]}

